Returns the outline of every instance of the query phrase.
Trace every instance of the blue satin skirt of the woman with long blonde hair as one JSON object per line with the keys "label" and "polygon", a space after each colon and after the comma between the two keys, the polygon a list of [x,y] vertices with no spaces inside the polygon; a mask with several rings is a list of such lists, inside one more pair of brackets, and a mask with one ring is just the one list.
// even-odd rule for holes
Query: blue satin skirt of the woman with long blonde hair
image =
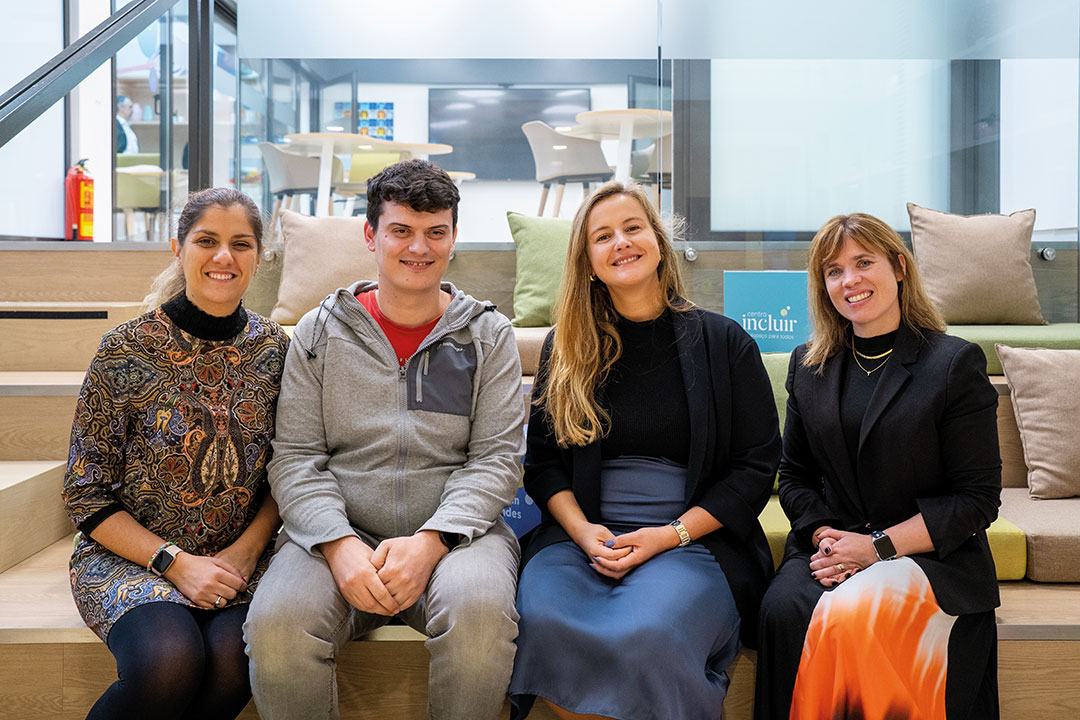
{"label": "blue satin skirt of the woman with long blonde hair", "polygon": [[[675,519],[686,473],[656,458],[605,461],[605,525],[621,534]],[[720,718],[739,613],[701,544],[661,553],[619,581],[593,570],[573,542],[549,545],[522,573],[517,611],[514,717],[539,695],[620,720]]]}

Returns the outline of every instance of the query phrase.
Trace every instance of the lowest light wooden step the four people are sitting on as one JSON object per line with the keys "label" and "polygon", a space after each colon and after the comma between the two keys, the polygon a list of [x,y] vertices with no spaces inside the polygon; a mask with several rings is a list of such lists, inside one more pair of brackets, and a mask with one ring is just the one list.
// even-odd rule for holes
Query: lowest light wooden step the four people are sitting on
{"label": "lowest light wooden step the four people are sitting on", "polygon": [[[71,538],[0,573],[0,717],[82,718],[116,679],[108,649],[82,623],[71,599]],[[1080,712],[1080,585],[1001,584],[998,653],[1002,718],[1058,720]],[[725,717],[748,720],[756,654],[729,669]],[[421,720],[428,653],[423,637],[387,626],[339,657],[341,717]],[[248,706],[242,718],[256,718]],[[505,717],[505,710],[503,712]],[[542,703],[534,716],[544,720]]]}

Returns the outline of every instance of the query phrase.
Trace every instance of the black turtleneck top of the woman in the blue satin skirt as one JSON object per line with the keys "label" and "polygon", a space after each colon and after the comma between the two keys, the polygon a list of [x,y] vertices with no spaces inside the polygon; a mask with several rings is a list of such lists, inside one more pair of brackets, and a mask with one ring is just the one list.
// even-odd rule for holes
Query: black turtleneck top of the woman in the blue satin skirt
{"label": "black turtleneck top of the woman in the blue satin skirt", "polygon": [[666,458],[687,464],[690,408],[672,311],[644,323],[620,317],[616,328],[622,355],[600,391],[600,403],[611,416],[610,432],[600,439],[600,456]]}

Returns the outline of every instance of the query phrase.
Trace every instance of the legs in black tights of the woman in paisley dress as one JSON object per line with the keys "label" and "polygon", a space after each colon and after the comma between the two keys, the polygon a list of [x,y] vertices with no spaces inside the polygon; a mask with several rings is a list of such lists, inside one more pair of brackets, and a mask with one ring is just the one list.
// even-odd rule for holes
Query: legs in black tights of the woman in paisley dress
{"label": "legs in black tights of the woman in paisley dress", "polygon": [[86,720],[232,720],[252,696],[244,655],[247,606],[208,611],[150,602],[109,631],[119,679]]}

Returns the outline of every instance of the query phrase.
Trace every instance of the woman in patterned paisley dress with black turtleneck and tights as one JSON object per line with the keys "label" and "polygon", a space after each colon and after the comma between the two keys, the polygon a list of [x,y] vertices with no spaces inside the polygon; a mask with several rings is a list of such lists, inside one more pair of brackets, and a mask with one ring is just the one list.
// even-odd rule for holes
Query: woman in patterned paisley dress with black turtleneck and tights
{"label": "woman in patterned paisley dress with black turtleneck and tights", "polygon": [[83,381],[71,592],[119,678],[89,718],[234,718],[251,696],[241,627],[280,526],[266,464],[288,342],[241,303],[261,235],[243,193],[193,194],[153,310],[106,334]]}

